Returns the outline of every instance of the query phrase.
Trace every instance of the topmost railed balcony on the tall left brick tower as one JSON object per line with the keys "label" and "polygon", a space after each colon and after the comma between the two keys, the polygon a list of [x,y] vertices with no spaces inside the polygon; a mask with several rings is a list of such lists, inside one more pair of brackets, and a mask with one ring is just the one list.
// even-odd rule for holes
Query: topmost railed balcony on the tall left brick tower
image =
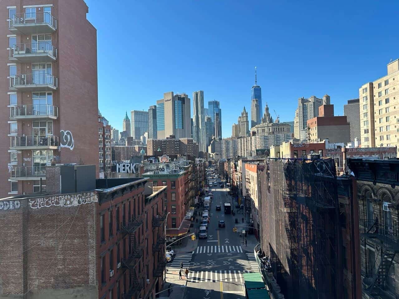
{"label": "topmost railed balcony on the tall left brick tower", "polygon": [[14,14],[14,18],[9,21],[8,30],[26,35],[51,34],[57,30],[57,20],[49,12]]}

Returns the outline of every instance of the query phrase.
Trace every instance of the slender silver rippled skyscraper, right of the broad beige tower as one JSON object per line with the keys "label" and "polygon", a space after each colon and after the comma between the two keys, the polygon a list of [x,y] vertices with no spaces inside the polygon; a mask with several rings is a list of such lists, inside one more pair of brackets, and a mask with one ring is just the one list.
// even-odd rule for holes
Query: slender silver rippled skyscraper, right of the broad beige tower
{"label": "slender silver rippled skyscraper, right of the broad beige tower", "polygon": [[205,114],[203,108],[203,90],[193,92],[193,138],[199,151],[206,152]]}

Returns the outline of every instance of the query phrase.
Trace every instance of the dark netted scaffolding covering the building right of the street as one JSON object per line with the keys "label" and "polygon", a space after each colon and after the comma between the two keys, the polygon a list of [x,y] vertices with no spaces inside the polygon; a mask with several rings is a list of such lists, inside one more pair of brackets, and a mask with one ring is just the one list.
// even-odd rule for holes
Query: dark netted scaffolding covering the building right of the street
{"label": "dark netted scaffolding covering the building right of the street", "polygon": [[[339,203],[332,159],[268,159],[273,272],[286,298],[339,298]],[[274,211],[273,211],[274,210]],[[279,231],[280,230],[280,231]]]}

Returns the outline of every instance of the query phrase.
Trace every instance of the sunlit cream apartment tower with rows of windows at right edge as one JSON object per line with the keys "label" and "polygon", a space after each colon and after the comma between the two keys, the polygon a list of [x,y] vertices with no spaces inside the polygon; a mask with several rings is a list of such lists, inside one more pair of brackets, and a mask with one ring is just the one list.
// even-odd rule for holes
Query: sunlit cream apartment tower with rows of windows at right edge
{"label": "sunlit cream apartment tower with rows of windows at right edge", "polygon": [[399,59],[387,65],[387,75],[359,89],[362,148],[399,148]]}

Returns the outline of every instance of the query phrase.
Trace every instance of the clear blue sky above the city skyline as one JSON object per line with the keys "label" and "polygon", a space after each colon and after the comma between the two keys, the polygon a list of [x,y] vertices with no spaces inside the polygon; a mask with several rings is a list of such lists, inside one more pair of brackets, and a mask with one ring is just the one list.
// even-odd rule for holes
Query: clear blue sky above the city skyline
{"label": "clear blue sky above the city skyline", "polygon": [[118,129],[125,110],[147,111],[164,92],[204,90],[205,108],[220,101],[229,137],[243,106],[250,111],[255,66],[273,118],[274,109],[293,120],[298,98],[326,93],[343,115],[359,87],[399,57],[397,1],[86,2],[99,109]]}

